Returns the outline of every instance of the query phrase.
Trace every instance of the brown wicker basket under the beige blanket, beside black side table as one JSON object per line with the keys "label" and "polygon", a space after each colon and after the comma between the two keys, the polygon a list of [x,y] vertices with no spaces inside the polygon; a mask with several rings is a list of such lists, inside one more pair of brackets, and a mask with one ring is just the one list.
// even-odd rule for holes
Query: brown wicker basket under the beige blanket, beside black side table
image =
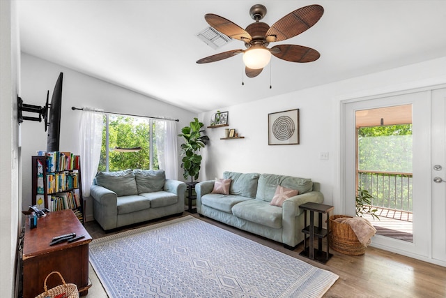
{"label": "brown wicker basket under the beige blanket, beside black side table", "polygon": [[355,232],[350,225],[346,223],[338,223],[334,221],[336,218],[348,217],[346,215],[332,215],[330,216],[330,247],[334,251],[344,253],[346,255],[364,255],[365,246],[357,239]]}

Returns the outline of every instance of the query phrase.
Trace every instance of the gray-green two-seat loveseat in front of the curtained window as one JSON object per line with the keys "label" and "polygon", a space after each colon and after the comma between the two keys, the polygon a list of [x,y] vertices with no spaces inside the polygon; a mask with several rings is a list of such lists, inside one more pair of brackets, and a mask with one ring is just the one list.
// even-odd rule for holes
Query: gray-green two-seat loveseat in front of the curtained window
{"label": "gray-green two-seat loveseat in front of the curtained window", "polygon": [[93,215],[111,230],[184,211],[186,184],[164,170],[99,172],[91,186]]}

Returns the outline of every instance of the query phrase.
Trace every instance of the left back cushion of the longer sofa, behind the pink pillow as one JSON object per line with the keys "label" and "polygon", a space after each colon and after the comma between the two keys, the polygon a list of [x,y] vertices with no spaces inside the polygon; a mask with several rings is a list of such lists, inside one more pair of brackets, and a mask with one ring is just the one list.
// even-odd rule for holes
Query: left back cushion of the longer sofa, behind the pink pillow
{"label": "left back cushion of the longer sofa, behind the pink pillow", "polygon": [[229,193],[231,195],[241,195],[245,198],[256,198],[258,173],[237,173],[224,172],[224,179],[232,179]]}

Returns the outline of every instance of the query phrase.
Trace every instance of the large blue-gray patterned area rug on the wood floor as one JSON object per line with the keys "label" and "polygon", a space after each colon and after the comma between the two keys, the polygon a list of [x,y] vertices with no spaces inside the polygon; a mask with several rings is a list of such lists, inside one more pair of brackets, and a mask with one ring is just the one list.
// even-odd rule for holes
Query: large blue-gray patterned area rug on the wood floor
{"label": "large blue-gray patterned area rug on the wood floor", "polygon": [[94,239],[109,297],[322,297],[339,278],[193,216]]}

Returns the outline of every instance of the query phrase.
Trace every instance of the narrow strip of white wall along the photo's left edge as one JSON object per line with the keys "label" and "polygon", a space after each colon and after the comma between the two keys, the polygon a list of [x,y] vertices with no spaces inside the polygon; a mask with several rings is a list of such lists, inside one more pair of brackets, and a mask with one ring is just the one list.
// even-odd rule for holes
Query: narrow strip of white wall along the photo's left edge
{"label": "narrow strip of white wall along the photo's left edge", "polygon": [[20,64],[15,1],[0,1],[0,289],[2,297],[17,290],[17,241],[21,231],[17,124],[17,93]]}

